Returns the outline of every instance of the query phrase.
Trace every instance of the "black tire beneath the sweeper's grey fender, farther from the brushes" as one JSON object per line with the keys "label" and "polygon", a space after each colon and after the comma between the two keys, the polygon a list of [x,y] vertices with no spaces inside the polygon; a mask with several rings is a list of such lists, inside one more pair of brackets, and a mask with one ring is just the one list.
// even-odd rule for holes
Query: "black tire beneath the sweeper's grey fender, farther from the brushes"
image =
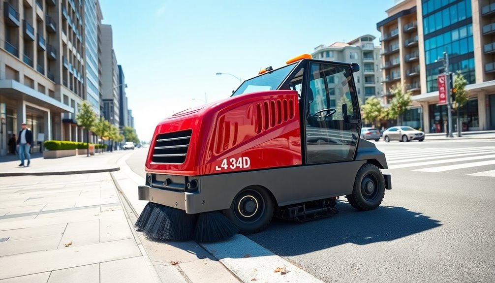
{"label": "black tire beneath the sweeper's grey fender, farther from the brushes", "polygon": [[[367,181],[365,183],[366,185],[368,185],[369,181],[376,183],[374,184],[372,195],[366,196],[366,192],[363,192],[365,190],[363,187],[363,185],[365,185],[363,184],[363,181]],[[359,171],[357,171],[352,194],[346,195],[347,201],[350,205],[358,210],[376,209],[382,203],[384,196],[385,178],[383,177],[382,171],[370,163],[364,164],[361,166]]]}

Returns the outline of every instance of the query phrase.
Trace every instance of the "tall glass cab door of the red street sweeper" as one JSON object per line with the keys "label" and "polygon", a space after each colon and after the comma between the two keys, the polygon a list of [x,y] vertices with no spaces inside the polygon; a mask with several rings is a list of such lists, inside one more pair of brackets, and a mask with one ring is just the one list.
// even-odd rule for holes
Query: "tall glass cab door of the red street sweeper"
{"label": "tall glass cab door of the red street sweeper", "polygon": [[361,121],[351,67],[310,61],[305,82],[306,164],[353,160]]}

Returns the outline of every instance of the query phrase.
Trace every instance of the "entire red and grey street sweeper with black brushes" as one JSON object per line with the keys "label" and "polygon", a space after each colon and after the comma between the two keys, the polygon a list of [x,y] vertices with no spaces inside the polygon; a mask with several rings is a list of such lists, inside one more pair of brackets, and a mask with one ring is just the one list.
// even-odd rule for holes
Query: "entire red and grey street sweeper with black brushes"
{"label": "entire red and grey street sweeper with black brushes", "polygon": [[246,80],[228,98],[180,111],[155,129],[136,227],[165,240],[262,231],[273,216],[336,213],[346,196],[377,208],[391,189],[385,154],[359,139],[355,63],[302,54]]}

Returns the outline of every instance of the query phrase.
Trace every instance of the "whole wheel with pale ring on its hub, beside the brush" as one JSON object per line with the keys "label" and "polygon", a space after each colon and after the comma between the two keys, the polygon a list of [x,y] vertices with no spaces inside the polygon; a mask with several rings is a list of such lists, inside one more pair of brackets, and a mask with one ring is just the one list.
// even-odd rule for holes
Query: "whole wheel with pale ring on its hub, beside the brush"
{"label": "whole wheel with pale ring on its hub, beside the brush", "polygon": [[263,231],[273,217],[274,204],[266,189],[248,187],[240,191],[225,216],[240,229],[241,234]]}

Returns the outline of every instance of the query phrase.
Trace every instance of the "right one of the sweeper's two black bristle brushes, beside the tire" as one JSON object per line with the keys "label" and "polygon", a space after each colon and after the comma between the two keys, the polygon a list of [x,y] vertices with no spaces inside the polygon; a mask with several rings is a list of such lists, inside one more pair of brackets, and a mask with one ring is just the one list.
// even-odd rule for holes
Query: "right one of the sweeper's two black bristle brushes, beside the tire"
{"label": "right one of the sweeper's two black bristle brushes, beside the tire", "polygon": [[201,243],[228,239],[239,233],[239,228],[219,211],[200,213],[196,224],[195,240]]}

